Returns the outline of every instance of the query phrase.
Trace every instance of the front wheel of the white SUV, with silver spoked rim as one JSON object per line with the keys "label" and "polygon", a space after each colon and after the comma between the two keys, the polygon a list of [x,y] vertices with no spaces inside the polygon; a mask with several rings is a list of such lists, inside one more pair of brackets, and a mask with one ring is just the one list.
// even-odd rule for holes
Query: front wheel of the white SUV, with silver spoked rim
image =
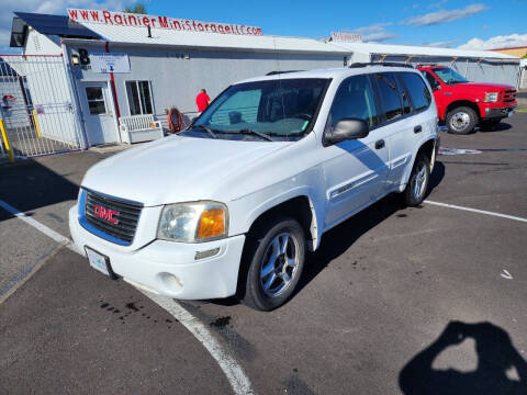
{"label": "front wheel of the white SUV, with silver spoked rim", "polygon": [[305,234],[293,218],[269,221],[254,233],[246,259],[243,303],[259,311],[272,311],[293,294],[304,269]]}

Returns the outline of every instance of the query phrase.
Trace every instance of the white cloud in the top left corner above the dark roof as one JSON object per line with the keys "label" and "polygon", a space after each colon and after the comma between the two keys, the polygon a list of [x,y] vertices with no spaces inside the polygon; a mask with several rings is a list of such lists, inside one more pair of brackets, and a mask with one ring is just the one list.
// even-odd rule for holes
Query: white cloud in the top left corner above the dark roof
{"label": "white cloud in the top left corner above the dark roof", "polygon": [[[11,24],[13,12],[36,12],[64,15],[68,8],[99,9],[121,11],[127,5],[135,3],[135,0],[15,0],[8,1],[2,5],[0,13],[0,48],[9,47],[11,36]],[[5,52],[5,50],[2,50]]]}

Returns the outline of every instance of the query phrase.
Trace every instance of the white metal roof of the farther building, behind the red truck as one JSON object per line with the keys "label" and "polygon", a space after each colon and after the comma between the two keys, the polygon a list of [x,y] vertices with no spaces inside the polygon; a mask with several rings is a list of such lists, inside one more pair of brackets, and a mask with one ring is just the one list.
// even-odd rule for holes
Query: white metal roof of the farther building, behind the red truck
{"label": "white metal roof of the farther building, behind the red truck", "polygon": [[377,43],[345,43],[333,42],[332,44],[349,49],[354,53],[374,54],[374,55],[414,55],[414,56],[440,56],[440,57],[462,57],[462,58],[493,58],[517,60],[518,58],[492,50],[468,50],[458,48],[437,48],[411,45],[392,45]]}

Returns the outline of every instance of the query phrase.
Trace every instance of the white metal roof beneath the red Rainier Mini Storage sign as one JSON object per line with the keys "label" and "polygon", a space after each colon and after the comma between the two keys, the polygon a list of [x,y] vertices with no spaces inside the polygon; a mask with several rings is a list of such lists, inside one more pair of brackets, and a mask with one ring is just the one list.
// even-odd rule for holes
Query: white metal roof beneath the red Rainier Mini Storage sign
{"label": "white metal roof beneath the red Rainier Mini Storage sign", "polygon": [[119,26],[101,23],[79,22],[112,44],[167,45],[193,48],[223,48],[249,52],[291,52],[349,55],[349,50],[313,38],[271,35],[234,35],[220,33],[183,32],[152,27]]}

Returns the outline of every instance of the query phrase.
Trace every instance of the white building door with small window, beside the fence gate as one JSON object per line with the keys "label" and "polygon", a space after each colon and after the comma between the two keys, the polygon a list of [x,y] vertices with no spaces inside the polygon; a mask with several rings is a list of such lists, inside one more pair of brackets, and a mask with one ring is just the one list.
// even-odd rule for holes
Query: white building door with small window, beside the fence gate
{"label": "white building door with small window, beside the fence gate", "polygon": [[89,145],[116,143],[117,131],[108,82],[81,82],[80,97]]}

